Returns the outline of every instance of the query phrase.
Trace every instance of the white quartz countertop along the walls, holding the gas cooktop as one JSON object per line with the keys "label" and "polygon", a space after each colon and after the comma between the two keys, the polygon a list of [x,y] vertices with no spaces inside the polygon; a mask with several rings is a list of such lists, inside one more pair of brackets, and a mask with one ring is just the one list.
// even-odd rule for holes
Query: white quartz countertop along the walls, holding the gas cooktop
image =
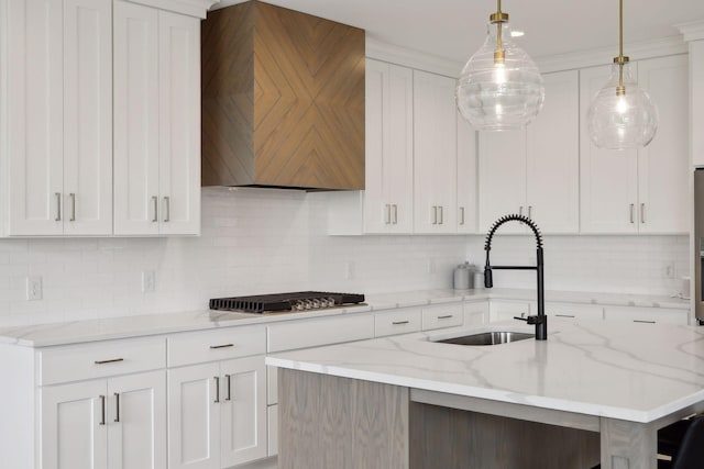
{"label": "white quartz countertop along the walls, holding the gas cooktop", "polygon": [[[311,317],[326,317],[397,308],[421,306],[455,301],[483,301],[487,299],[535,301],[535,290],[421,290],[410,292],[367,294],[366,304],[327,311],[302,313],[250,314],[222,311],[195,311],[184,313],[147,314],[101,320],[73,321],[0,328],[0,343],[28,347],[48,347],[186,331],[265,324]],[[598,305],[675,308],[689,310],[690,302],[669,297],[625,295],[614,293],[585,293],[547,291],[546,301],[574,302]]]}

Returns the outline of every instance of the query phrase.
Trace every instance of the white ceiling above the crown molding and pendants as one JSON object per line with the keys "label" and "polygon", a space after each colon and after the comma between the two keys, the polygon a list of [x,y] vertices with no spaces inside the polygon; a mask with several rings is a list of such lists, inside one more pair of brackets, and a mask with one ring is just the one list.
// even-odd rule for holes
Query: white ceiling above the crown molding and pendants
{"label": "white ceiling above the crown molding and pendants", "polygon": [[[241,3],[221,0],[219,7]],[[486,35],[494,0],[266,0],[366,30],[385,43],[463,64]],[[218,8],[219,8],[218,7]],[[520,45],[534,57],[618,45],[617,0],[503,0]],[[704,20],[703,0],[625,0],[629,43],[678,35],[673,24]]]}

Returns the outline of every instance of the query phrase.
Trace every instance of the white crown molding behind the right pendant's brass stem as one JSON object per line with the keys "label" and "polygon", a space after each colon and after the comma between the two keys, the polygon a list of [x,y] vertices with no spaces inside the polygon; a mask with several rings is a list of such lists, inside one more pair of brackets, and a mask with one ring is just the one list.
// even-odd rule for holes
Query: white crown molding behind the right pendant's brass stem
{"label": "white crown molding behind the right pendant's brass stem", "polygon": [[[617,51],[618,46],[601,47],[591,51],[536,57],[535,60],[540,71],[546,74],[598,65],[610,65],[613,57],[617,55]],[[641,60],[666,55],[686,54],[688,45],[682,41],[682,36],[670,36],[628,44],[626,52],[628,53],[626,55],[628,55],[631,60]]]}

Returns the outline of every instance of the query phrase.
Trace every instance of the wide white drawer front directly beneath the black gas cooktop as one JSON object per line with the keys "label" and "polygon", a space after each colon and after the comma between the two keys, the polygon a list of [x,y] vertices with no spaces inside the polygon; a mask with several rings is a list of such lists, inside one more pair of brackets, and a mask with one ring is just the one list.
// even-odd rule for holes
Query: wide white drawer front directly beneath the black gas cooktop
{"label": "wide white drawer front directly beneath the black gas cooktop", "polygon": [[267,330],[268,349],[266,351],[293,350],[372,338],[374,337],[374,317],[365,314],[292,321],[273,324]]}

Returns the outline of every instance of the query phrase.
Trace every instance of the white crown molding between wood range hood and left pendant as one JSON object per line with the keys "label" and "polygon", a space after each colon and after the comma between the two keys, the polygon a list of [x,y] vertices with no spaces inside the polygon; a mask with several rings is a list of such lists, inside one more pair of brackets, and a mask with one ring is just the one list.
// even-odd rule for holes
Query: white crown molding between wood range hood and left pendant
{"label": "white crown molding between wood range hood and left pendant", "polygon": [[460,76],[463,66],[444,57],[384,43],[375,37],[370,37],[369,34],[366,36],[366,56],[452,78]]}

